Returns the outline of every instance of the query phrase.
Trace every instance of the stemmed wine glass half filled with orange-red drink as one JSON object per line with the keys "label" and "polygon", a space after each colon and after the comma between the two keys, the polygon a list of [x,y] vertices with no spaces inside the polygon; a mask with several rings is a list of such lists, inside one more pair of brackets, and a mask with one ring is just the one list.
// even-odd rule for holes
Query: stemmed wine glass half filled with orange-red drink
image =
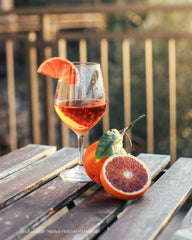
{"label": "stemmed wine glass half filled with orange-red drink", "polygon": [[[107,100],[100,64],[73,64],[77,71],[68,76],[73,79],[59,79],[57,82],[54,107],[60,119],[77,135],[79,161],[75,167],[61,172],[60,177],[68,181],[87,182],[91,179],[83,167],[84,135],[102,118]],[[74,79],[78,79],[79,83],[74,84]]]}

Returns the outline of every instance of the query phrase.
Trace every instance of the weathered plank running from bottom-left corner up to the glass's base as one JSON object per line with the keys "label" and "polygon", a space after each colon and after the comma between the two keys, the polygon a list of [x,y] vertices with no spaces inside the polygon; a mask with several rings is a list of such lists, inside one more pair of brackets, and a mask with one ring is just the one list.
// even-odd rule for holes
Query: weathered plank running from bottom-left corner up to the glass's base
{"label": "weathered plank running from bottom-left corner up to the glass's base", "polygon": [[[31,232],[93,183],[64,182],[60,177],[0,211],[0,240],[19,239]],[[49,196],[49,197],[48,197]]]}

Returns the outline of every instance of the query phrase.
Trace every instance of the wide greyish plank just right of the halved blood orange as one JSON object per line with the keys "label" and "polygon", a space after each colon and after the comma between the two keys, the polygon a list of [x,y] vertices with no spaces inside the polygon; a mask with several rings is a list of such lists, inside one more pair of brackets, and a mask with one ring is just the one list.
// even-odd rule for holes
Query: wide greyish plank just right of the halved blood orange
{"label": "wide greyish plank just right of the halved blood orange", "polygon": [[177,160],[99,239],[154,239],[189,196],[191,172],[192,159]]}

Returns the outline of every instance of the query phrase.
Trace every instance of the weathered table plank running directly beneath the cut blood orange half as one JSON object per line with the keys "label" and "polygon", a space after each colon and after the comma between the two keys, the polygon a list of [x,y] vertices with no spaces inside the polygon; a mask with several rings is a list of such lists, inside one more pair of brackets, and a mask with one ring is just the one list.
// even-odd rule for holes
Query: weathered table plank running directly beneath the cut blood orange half
{"label": "weathered table plank running directly beneath the cut blood orange half", "polygon": [[[170,161],[166,155],[141,154],[139,157],[149,166],[153,178]],[[91,239],[106,228],[128,203],[111,197],[100,188],[32,239],[52,239],[50,232],[54,232],[56,239]]]}

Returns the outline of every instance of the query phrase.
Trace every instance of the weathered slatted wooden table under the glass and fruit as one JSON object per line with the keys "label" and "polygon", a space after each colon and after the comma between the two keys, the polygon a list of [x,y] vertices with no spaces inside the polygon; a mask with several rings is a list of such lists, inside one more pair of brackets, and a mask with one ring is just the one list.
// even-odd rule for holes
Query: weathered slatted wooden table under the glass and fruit
{"label": "weathered slatted wooden table under the glass and fruit", "polygon": [[[1,157],[0,239],[158,239],[191,194],[192,159],[180,158],[164,171],[169,156],[139,158],[155,181],[131,202],[92,182],[62,181],[59,173],[77,163],[77,149],[28,145]],[[192,239],[192,209],[171,239]]]}

